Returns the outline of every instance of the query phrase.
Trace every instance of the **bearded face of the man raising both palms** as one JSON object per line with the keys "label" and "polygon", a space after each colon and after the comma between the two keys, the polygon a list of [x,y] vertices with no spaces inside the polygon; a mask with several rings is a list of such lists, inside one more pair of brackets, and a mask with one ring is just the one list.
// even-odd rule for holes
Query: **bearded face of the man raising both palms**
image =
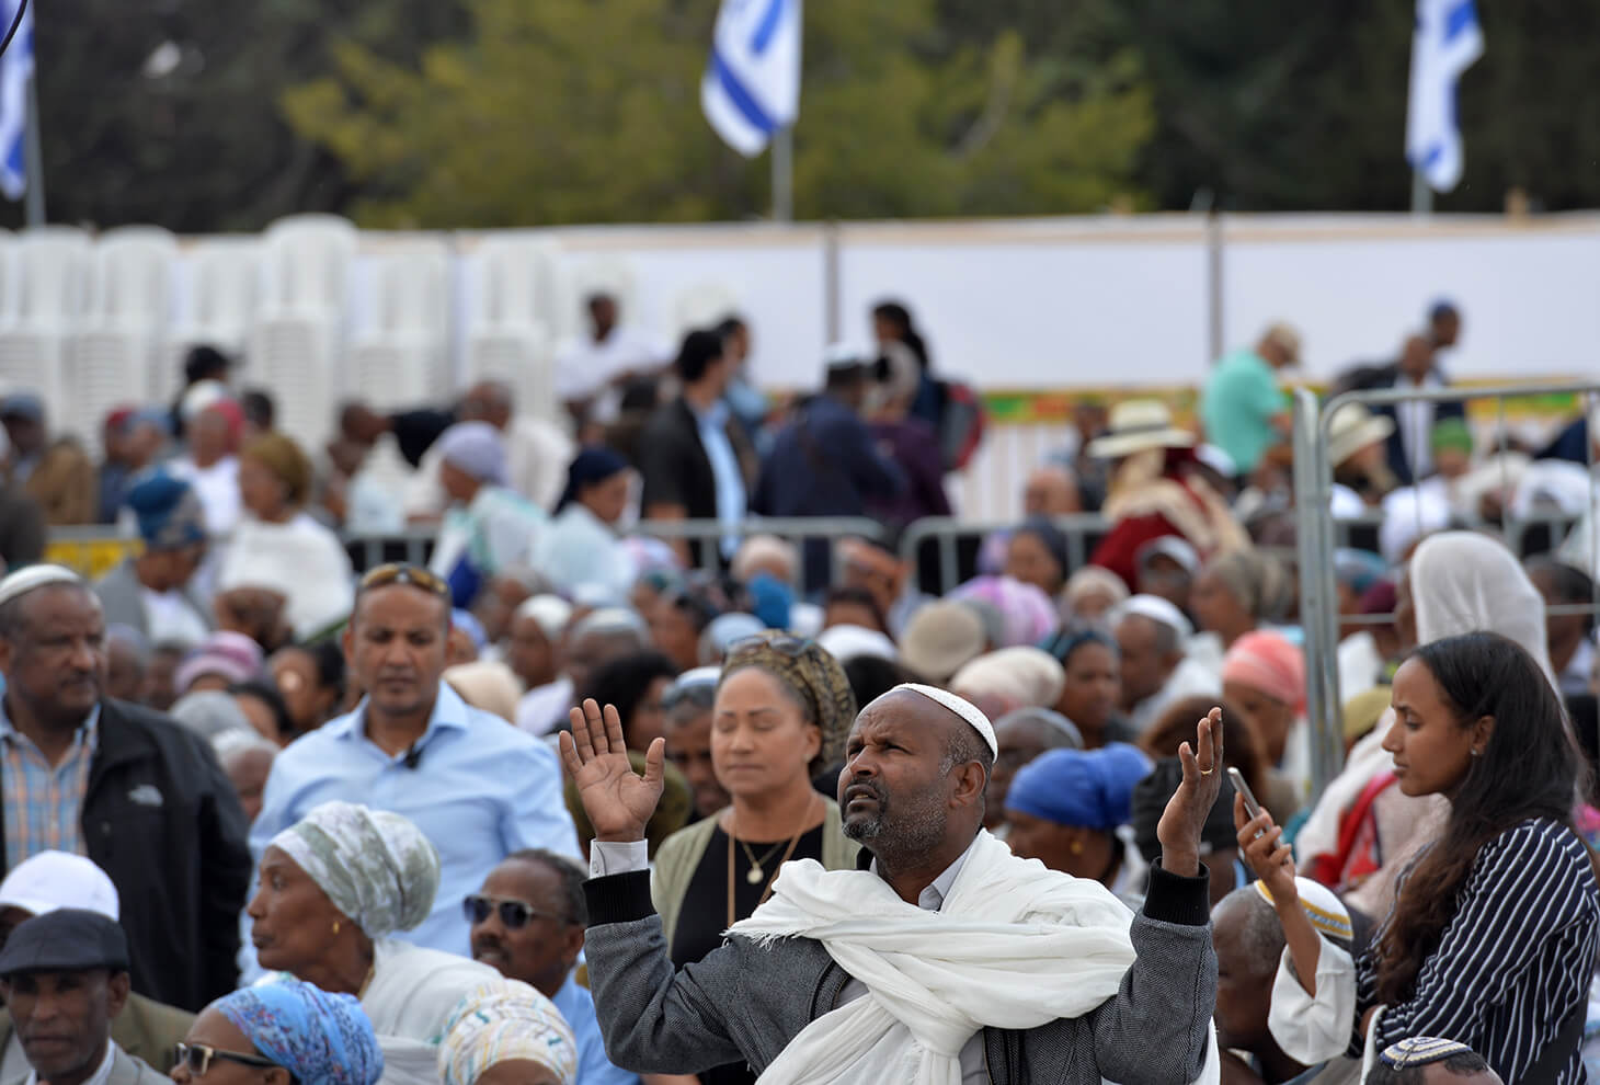
{"label": "bearded face of the man raising both palms", "polygon": [[952,842],[971,842],[989,771],[989,749],[963,719],[907,690],[885,693],[845,743],[845,835],[886,871],[912,869]]}

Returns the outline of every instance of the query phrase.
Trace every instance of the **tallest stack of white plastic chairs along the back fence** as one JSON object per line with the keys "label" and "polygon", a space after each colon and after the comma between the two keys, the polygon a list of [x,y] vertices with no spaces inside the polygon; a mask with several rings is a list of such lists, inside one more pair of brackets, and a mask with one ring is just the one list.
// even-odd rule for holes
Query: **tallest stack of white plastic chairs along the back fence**
{"label": "tallest stack of white plastic chairs along the back fence", "polygon": [[262,235],[261,307],[250,334],[251,382],[278,402],[278,429],[322,446],[341,379],[355,227],[331,214],[278,219]]}

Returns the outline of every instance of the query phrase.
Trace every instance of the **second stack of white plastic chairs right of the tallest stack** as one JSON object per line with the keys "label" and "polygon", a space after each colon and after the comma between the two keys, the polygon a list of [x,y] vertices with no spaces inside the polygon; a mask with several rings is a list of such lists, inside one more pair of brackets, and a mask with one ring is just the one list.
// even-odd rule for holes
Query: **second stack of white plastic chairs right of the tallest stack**
{"label": "second stack of white plastic chairs right of the tallest stack", "polygon": [[517,411],[555,419],[555,250],[526,235],[485,240],[467,264],[466,381],[510,384]]}

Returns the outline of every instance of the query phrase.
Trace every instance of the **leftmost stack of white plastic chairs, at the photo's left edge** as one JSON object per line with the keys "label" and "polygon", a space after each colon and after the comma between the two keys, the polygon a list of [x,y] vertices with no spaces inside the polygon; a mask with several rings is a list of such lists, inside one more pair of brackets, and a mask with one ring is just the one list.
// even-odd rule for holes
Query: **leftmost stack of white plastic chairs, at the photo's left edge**
{"label": "leftmost stack of white plastic chairs, at the photo's left edge", "polygon": [[67,360],[83,315],[88,262],[88,235],[69,226],[24,230],[8,261],[0,386],[43,397],[51,426],[67,400]]}

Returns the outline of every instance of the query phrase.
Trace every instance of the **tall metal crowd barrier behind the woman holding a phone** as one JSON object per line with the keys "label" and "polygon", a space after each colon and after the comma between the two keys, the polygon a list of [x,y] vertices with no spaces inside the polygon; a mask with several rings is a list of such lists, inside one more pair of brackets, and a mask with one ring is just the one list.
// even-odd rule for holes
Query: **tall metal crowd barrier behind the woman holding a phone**
{"label": "tall metal crowd barrier behind the woman holding a phone", "polygon": [[[1346,392],[1328,403],[1322,403],[1317,394],[1309,389],[1294,392],[1294,509],[1296,509],[1296,544],[1299,549],[1299,587],[1301,587],[1301,626],[1306,634],[1306,683],[1307,683],[1307,720],[1312,727],[1312,800],[1315,800],[1328,781],[1344,765],[1344,699],[1339,690],[1339,603],[1338,586],[1333,571],[1333,555],[1336,547],[1336,530],[1341,528],[1330,515],[1330,499],[1333,494],[1333,467],[1328,462],[1330,421],[1341,406],[1362,403],[1363,406],[1400,406],[1403,403],[1469,403],[1474,400],[1494,400],[1499,408],[1499,424],[1496,442],[1507,435],[1506,400],[1530,395],[1574,395],[1578,402],[1600,394],[1597,382],[1574,384],[1507,384],[1482,389],[1429,389],[1429,390],[1395,390],[1374,389],[1363,392]],[[1590,475],[1587,518],[1595,523],[1597,490],[1594,440],[1600,434],[1590,434],[1587,448],[1587,469]],[[1504,461],[1501,461],[1504,469]],[[1413,477],[1418,474],[1413,464]],[[1504,483],[1509,483],[1506,477]],[[1509,490],[1509,485],[1502,488]],[[1418,509],[1421,517],[1421,509]],[[1478,517],[1454,517],[1459,526],[1474,530],[1493,530],[1518,557],[1526,557],[1530,551],[1530,534],[1547,533],[1549,549],[1555,549],[1576,522],[1584,517],[1536,512],[1534,515],[1514,518],[1506,514],[1499,523],[1485,523]],[[1421,525],[1419,525],[1421,526]],[[1600,533],[1595,533],[1600,534]],[[1594,573],[1595,555],[1587,555],[1586,573]],[[1600,586],[1597,586],[1600,592]],[[1568,613],[1571,607],[1550,607],[1549,613]],[[1584,613],[1600,613],[1600,599],[1590,600],[1589,607],[1581,607]],[[1373,618],[1381,623],[1382,618]],[[1354,693],[1354,691],[1352,691]]]}

